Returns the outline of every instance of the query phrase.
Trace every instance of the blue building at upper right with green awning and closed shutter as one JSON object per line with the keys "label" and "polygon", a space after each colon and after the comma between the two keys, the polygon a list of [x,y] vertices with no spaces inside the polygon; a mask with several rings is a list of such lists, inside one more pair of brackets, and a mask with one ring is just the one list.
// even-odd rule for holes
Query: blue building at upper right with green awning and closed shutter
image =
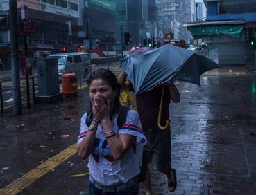
{"label": "blue building at upper right with green awning and closed shutter", "polygon": [[187,25],[194,39],[202,39],[208,55],[221,65],[254,64],[256,2],[205,1],[207,19]]}

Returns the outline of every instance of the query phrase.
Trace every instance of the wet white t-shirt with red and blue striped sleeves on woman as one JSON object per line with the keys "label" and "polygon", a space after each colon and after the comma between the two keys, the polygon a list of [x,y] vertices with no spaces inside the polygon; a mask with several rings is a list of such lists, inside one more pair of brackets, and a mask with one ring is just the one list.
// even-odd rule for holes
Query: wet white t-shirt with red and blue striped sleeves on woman
{"label": "wet white t-shirt with red and blue striped sleeves on woman", "polygon": [[[142,132],[142,124],[139,120],[139,115],[137,111],[129,110],[125,124],[119,129],[117,125],[118,114],[119,113],[114,115],[112,120],[114,133],[117,135],[129,134],[136,136],[136,152],[133,147],[131,147],[120,160],[114,161],[108,142],[105,140],[105,133],[99,124],[94,141],[94,151],[89,155],[88,168],[92,178],[103,185],[112,185],[120,181],[126,183],[139,174],[139,166],[142,163],[142,151],[143,145],[146,144],[146,137]],[[85,123],[86,117],[87,113],[81,118],[78,142],[83,140],[89,129]]]}

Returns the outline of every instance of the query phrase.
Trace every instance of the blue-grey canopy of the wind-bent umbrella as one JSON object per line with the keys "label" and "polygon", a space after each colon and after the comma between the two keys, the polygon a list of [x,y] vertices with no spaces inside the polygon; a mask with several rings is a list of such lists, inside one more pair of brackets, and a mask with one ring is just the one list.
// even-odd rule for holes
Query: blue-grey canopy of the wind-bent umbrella
{"label": "blue-grey canopy of the wind-bent umbrella", "polygon": [[135,93],[149,91],[174,80],[200,86],[200,75],[214,68],[221,66],[204,55],[171,44],[143,54],[130,54],[123,62],[123,71],[132,82]]}

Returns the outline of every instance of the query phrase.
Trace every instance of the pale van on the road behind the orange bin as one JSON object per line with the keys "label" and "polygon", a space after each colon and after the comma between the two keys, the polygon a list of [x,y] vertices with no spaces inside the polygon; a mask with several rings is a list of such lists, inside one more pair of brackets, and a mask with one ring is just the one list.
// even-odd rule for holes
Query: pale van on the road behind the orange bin
{"label": "pale van on the road behind the orange bin", "polygon": [[89,56],[88,53],[56,53],[47,58],[58,59],[58,73],[62,77],[64,73],[76,73],[78,77],[89,75]]}

